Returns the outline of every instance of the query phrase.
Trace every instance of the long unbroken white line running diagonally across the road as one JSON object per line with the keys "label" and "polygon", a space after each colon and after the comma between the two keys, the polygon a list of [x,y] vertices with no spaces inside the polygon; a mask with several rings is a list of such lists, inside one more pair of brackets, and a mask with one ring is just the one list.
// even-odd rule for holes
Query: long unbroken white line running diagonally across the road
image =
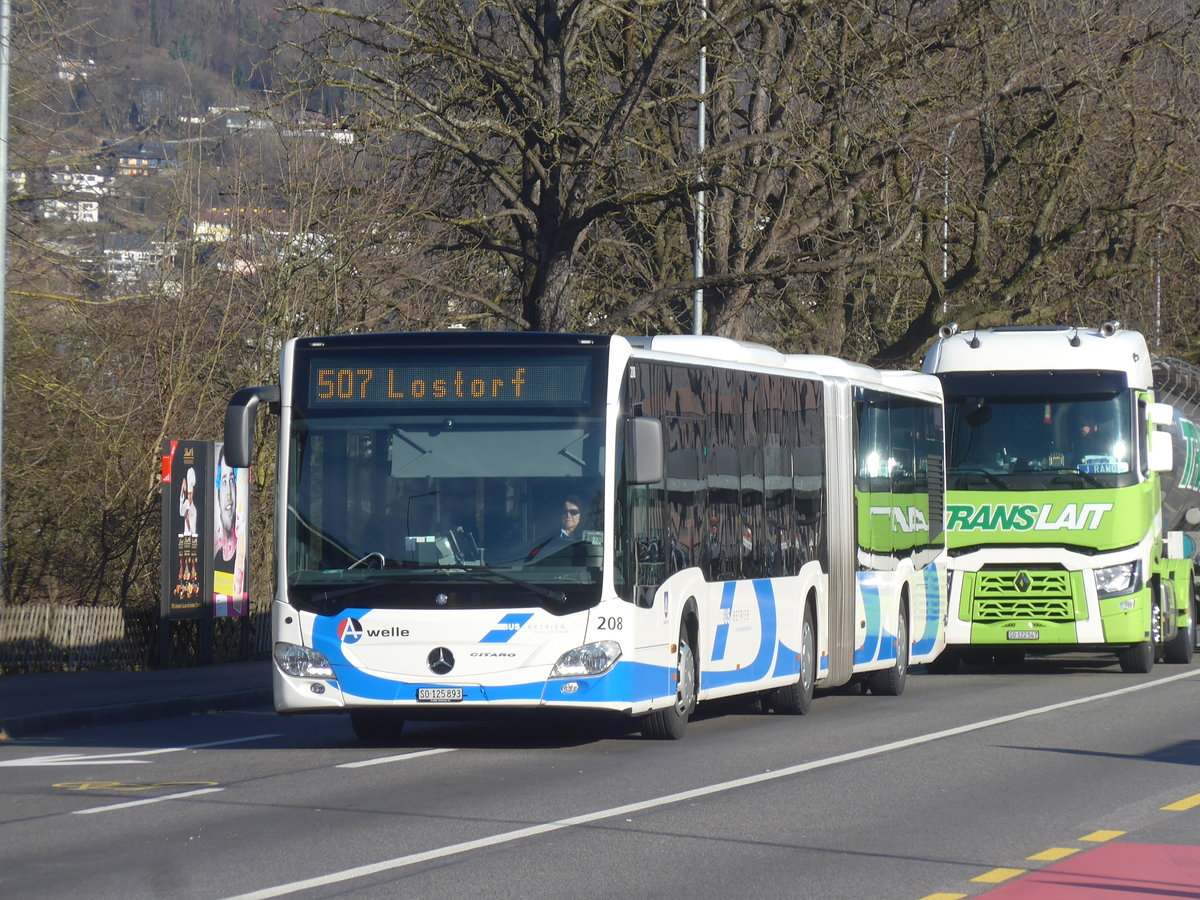
{"label": "long unbroken white line running diagonally across the road", "polygon": [[694,800],[700,797],[709,797],[716,793],[724,793],[726,791],[736,791],[739,787],[750,787],[752,785],[761,785],[768,781],[778,781],[782,778],[791,778],[792,775],[799,775],[804,772],[812,772],[815,769],[827,768],[829,766],[838,766],[844,762],[852,762],[854,760],[865,760],[870,756],[880,756],[882,754],[888,754],[894,750],[905,750],[910,746],[919,746],[920,744],[929,744],[934,740],[943,740],[946,738],[956,737],[959,734],[967,734],[972,731],[982,731],[983,728],[990,728],[995,725],[1004,725],[1007,722],[1020,721],[1021,719],[1031,719],[1036,715],[1043,715],[1045,713],[1052,713],[1060,709],[1069,709],[1072,707],[1084,706],[1085,703],[1094,703],[1102,700],[1111,700],[1112,697],[1118,697],[1123,694],[1133,694],[1135,691],[1147,690],[1150,688],[1158,688],[1164,684],[1170,684],[1171,682],[1178,682],[1183,678],[1194,678],[1200,674],[1200,670],[1192,670],[1189,672],[1182,672],[1176,676],[1170,676],[1168,678],[1159,678],[1154,682],[1146,682],[1145,684],[1135,684],[1128,688],[1120,688],[1112,691],[1105,691],[1104,694],[1097,694],[1090,697],[1080,697],[1078,700],[1068,700],[1061,703],[1051,703],[1050,706],[1038,707],[1037,709],[1027,709],[1022,713],[1010,713],[1008,715],[1000,715],[995,719],[984,719],[983,721],[971,722],[968,725],[959,725],[953,728],[946,728],[943,731],[935,731],[929,734],[919,734],[912,738],[905,738],[904,740],[893,740],[888,744],[880,744],[878,746],[869,746],[863,750],[854,750],[848,754],[839,754],[838,756],[828,756],[824,760],[814,760],[812,762],[799,763],[798,766],[788,766],[787,768],[775,769],[774,772],[764,772],[758,775],[746,775],[745,778],[733,779],[732,781],[722,781],[715,785],[708,785],[707,787],[695,787],[690,791],[679,791],[678,793],[666,794],[664,797],[653,797],[637,803],[629,803],[624,806],[612,806],[610,809],[596,810],[594,812],[584,812],[580,816],[571,816],[570,818],[559,818],[554,822],[545,822],[542,824],[529,826],[528,828],[518,828],[514,832],[503,832],[500,834],[488,835],[487,838],[478,838],[470,841],[463,841],[461,844],[451,844],[445,847],[434,847],[433,850],[427,850],[421,853],[409,853],[408,856],[396,857],[394,859],[384,859],[378,863],[368,863],[367,865],[354,866],[353,869],[343,869],[337,872],[329,872],[328,875],[318,875],[312,878],[305,878],[302,881],[293,881],[287,884],[276,884],[274,887],[263,888],[262,890],[252,890],[248,894],[236,894],[234,896],[227,898],[227,900],[268,900],[268,898],[284,896],[287,894],[295,894],[301,890],[311,890],[313,888],[325,887],[328,884],[337,884],[341,882],[353,881],[355,878],[364,878],[371,875],[379,875],[380,872],[394,871],[396,869],[404,869],[410,865],[419,865],[421,863],[428,863],[434,859],[444,859],[446,857],[456,856],[458,853],[469,853],[473,850],[484,850],[486,847],[496,847],[502,844],[512,844],[515,841],[524,840],[526,838],[534,838],[540,834],[550,834],[552,832],[560,832],[566,828],[574,828],[576,826],[590,824],[592,822],[599,822],[605,818],[614,818],[617,816],[629,816],[636,812],[646,812],[647,810],[658,809],[660,806],[668,806],[676,803],[683,803],[685,800]]}

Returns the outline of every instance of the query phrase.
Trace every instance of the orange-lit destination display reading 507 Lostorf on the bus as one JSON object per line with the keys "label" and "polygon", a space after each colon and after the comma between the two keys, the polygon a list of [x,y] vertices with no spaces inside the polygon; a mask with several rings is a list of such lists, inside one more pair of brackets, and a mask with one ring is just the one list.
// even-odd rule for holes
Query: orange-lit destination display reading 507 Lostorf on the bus
{"label": "orange-lit destination display reading 507 Lostorf on the bus", "polygon": [[346,407],[586,407],[592,360],[521,353],[446,362],[355,356],[312,356],[305,406]]}

